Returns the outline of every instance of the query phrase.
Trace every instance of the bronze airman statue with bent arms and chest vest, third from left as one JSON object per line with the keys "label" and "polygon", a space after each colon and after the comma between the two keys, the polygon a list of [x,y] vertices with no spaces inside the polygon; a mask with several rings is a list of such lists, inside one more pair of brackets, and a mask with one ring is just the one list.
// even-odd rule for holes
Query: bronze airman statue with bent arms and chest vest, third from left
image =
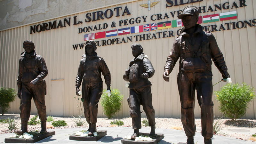
{"label": "bronze airman statue with bent arms and chest vest, third from left", "polygon": [[140,135],[139,129],[141,129],[140,104],[146,113],[148,124],[151,127],[150,135],[156,134],[155,110],[152,106],[152,84],[148,80],[148,78],[154,75],[155,69],[148,60],[147,55],[144,55],[140,44],[132,44],[132,55],[134,58],[130,62],[129,68],[125,70],[123,78],[125,81],[130,82],[128,104],[132,117],[132,129],[134,129],[131,140],[135,140]]}

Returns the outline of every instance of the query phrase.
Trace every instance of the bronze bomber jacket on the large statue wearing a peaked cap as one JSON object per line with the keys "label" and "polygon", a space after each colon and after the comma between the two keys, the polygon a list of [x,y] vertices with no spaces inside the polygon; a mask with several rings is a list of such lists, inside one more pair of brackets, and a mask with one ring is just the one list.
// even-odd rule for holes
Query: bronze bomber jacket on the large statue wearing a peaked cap
{"label": "bronze bomber jacket on the large statue wearing a peaked cap", "polygon": [[[199,24],[196,25],[196,28],[196,32],[192,35],[192,37],[194,37],[196,40],[194,47],[193,45],[188,44],[188,38],[190,38],[190,36],[187,34],[186,29],[182,28],[180,30],[180,36],[178,36],[173,43],[172,50],[167,58],[164,70],[169,70],[172,72],[175,63],[180,58],[179,71],[186,71],[186,67],[190,67],[192,68],[190,69],[191,71],[196,72],[197,69],[200,69],[203,66],[206,67],[205,70],[211,71],[211,65],[213,61],[222,76],[225,75],[224,72],[227,71],[228,68],[215,37],[211,32],[204,32],[202,26]],[[205,38],[203,38],[203,36],[205,36]],[[204,40],[205,42],[203,42]],[[202,50],[203,43],[205,43],[204,47],[206,48],[204,50]],[[196,45],[199,47],[195,47]],[[189,47],[193,50],[189,51]],[[196,51],[196,49],[201,52],[197,52],[197,54],[195,54],[196,52],[194,51]]]}

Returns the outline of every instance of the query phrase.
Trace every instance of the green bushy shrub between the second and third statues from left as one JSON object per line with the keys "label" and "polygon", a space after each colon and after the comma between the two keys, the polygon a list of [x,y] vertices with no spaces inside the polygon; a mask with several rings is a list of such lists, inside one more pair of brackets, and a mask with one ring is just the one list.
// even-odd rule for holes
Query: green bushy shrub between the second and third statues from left
{"label": "green bushy shrub between the second and third statues from left", "polygon": [[104,115],[109,119],[114,118],[122,108],[121,101],[123,100],[124,95],[120,94],[117,89],[112,89],[111,96],[108,97],[107,90],[103,90],[101,95],[100,104],[103,107]]}

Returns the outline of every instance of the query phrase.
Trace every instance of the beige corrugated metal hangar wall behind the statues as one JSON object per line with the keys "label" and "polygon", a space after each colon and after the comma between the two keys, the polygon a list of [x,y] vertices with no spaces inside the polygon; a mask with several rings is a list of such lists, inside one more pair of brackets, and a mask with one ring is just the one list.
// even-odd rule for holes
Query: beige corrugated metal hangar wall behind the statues
{"label": "beige corrugated metal hangar wall behind the statues", "polygon": [[[151,1],[152,2],[152,1]],[[204,0],[203,2],[194,3],[195,6],[213,6],[214,4],[223,4],[229,2],[230,5],[234,2],[239,4],[238,0],[214,0],[208,1]],[[25,39],[32,40],[36,45],[36,52],[39,55],[42,55],[46,61],[46,65],[49,71],[48,76],[46,77],[47,82],[47,95],[45,96],[45,102],[47,107],[47,115],[51,115],[51,98],[54,95],[51,95],[51,91],[58,91],[56,89],[51,88],[51,80],[64,80],[64,105],[63,105],[63,114],[64,116],[77,115],[76,108],[76,100],[75,96],[75,80],[77,69],[79,66],[79,61],[81,60],[81,56],[84,54],[84,49],[74,50],[73,44],[82,44],[85,41],[83,40],[84,34],[78,34],[78,28],[84,28],[88,26],[94,26],[98,24],[108,23],[107,29],[97,30],[94,32],[101,32],[112,30],[110,25],[114,21],[118,23],[119,20],[137,18],[142,16],[148,16],[147,22],[133,24],[128,26],[116,27],[116,28],[126,28],[132,26],[138,26],[143,24],[155,23],[155,22],[164,22],[168,20],[177,20],[177,15],[172,18],[170,12],[182,10],[185,6],[189,5],[180,5],[180,6],[172,6],[170,8],[166,8],[166,1],[160,1],[159,4],[156,4],[154,7],[151,7],[151,10],[148,11],[148,8],[143,8],[139,4],[146,4],[148,0],[135,0],[128,1],[127,3],[110,5],[108,7],[100,7],[98,9],[92,9],[90,11],[74,13],[72,15],[65,15],[63,17],[58,17],[52,20],[39,21],[37,23],[32,23],[29,25],[24,25],[16,28],[6,29],[0,31],[0,68],[1,68],[1,77],[0,77],[0,86],[4,87],[13,87],[16,90],[17,88],[17,73],[18,73],[18,61],[20,58],[20,53],[23,52],[22,42]],[[237,11],[237,19],[235,20],[226,20],[226,21],[218,21],[213,23],[203,23],[202,26],[213,25],[216,24],[220,26],[221,24],[225,24],[228,22],[238,22],[244,20],[253,20],[256,18],[256,3],[254,0],[246,0],[245,3],[247,6],[238,7],[234,9],[227,10],[218,10],[215,12],[201,13],[199,16],[208,15],[208,14],[216,14],[222,12],[229,11]],[[44,22],[48,23],[49,21],[54,20],[63,20],[64,18],[73,18],[77,16],[77,19],[84,20],[85,14],[88,12],[96,12],[96,11],[105,11],[106,9],[112,9],[118,6],[122,6],[124,9],[125,6],[132,13],[131,15],[125,15],[120,17],[113,16],[111,19],[98,20],[90,23],[83,23],[76,26],[73,26],[73,21],[71,19],[71,25],[65,28],[52,29],[49,31],[44,31],[40,33],[30,33],[30,26],[42,24]],[[230,8],[231,8],[230,6]],[[238,5],[239,6],[239,5]],[[168,13],[169,19],[163,20],[150,20],[150,16],[153,14]],[[118,24],[117,24],[118,25]],[[255,24],[254,24],[255,25]],[[177,63],[174,70],[170,75],[170,82],[165,82],[162,78],[162,73],[164,69],[164,64],[166,58],[172,48],[172,44],[174,38],[177,37],[176,31],[181,27],[177,28],[168,28],[163,30],[155,30],[150,32],[142,32],[135,33],[123,36],[115,36],[126,39],[126,36],[132,36],[132,42],[128,41],[127,43],[122,44],[113,44],[108,46],[100,46],[97,48],[96,52],[99,56],[103,57],[106,61],[108,68],[111,72],[111,87],[119,89],[124,94],[123,108],[122,111],[118,113],[118,117],[129,117],[129,109],[126,99],[129,95],[128,88],[125,87],[126,82],[123,80],[122,76],[126,68],[128,68],[128,64],[132,59],[131,52],[131,44],[132,43],[140,43],[144,48],[144,53],[148,55],[149,60],[151,60],[156,72],[155,75],[150,78],[152,85],[152,95],[153,95],[153,106],[155,108],[156,117],[180,117],[180,99],[177,88],[177,74],[179,64]],[[158,38],[152,40],[144,40],[136,42],[134,36],[140,34],[147,34],[156,32],[162,32],[172,30],[174,32],[174,37],[167,38]],[[218,45],[224,54],[226,64],[228,66],[228,72],[232,78],[234,83],[242,83],[245,82],[252,86],[256,85],[256,77],[255,77],[255,63],[256,59],[254,55],[256,54],[256,27],[246,27],[246,28],[236,28],[230,30],[221,30],[218,32],[212,32],[215,36]],[[162,37],[162,36],[161,36]],[[113,38],[113,37],[110,37]],[[107,40],[110,38],[102,38],[96,39],[98,40]],[[94,39],[94,41],[96,41]],[[254,71],[254,72],[253,72]],[[213,72],[213,84],[219,82],[221,80],[221,75],[218,72],[218,69],[212,65]],[[216,84],[213,87],[214,91],[220,90],[221,86],[226,83],[221,82]],[[106,89],[106,85],[104,85],[104,89]],[[213,96],[214,101],[214,114],[216,116],[222,116],[222,114],[218,110],[218,102],[215,100],[215,96]],[[62,101],[62,100],[60,100]],[[58,103],[58,101],[56,101]],[[20,101],[17,98],[12,104],[9,110],[10,113],[19,113],[19,105]],[[246,113],[246,118],[256,118],[256,101],[254,100]],[[36,108],[33,105],[31,113],[36,114]],[[99,104],[99,117],[105,117],[103,115],[102,107]],[[145,114],[143,113],[143,116]],[[195,108],[195,116],[200,117],[200,108],[196,101]]]}

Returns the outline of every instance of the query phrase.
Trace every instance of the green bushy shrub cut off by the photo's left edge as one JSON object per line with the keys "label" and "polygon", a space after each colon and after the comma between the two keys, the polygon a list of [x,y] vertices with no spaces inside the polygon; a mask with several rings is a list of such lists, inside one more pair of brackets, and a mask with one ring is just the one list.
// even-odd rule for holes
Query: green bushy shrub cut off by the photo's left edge
{"label": "green bushy shrub cut off by the photo's left edge", "polygon": [[0,88],[0,110],[2,116],[10,108],[10,102],[13,102],[17,96],[17,92],[14,88]]}

